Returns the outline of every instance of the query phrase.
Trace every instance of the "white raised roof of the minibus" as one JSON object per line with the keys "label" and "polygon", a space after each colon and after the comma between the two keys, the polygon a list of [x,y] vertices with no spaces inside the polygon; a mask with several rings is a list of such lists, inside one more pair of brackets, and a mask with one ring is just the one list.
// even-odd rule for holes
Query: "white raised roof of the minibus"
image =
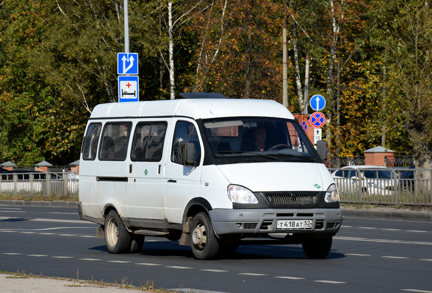
{"label": "white raised roof of the minibus", "polygon": [[289,110],[273,100],[211,98],[99,104],[93,109],[90,119],[172,116],[193,119],[241,116],[294,119]]}

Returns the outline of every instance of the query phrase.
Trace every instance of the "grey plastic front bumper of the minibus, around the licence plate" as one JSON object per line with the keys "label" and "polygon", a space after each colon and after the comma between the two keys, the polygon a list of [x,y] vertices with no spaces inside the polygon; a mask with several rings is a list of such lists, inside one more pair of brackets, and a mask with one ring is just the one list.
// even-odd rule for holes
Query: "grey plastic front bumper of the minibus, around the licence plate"
{"label": "grey plastic front bumper of the minibus, around the licence plate", "polygon": [[[216,235],[269,233],[337,233],[342,224],[340,208],[312,209],[214,209],[210,219]],[[310,229],[276,229],[277,220],[311,220]]]}

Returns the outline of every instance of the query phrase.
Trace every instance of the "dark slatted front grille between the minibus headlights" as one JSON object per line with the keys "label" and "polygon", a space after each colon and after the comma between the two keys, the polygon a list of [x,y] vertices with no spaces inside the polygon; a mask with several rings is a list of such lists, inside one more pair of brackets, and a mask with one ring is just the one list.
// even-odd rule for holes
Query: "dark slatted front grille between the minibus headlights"
{"label": "dark slatted front grille between the minibus headlights", "polygon": [[319,192],[264,192],[272,205],[316,205]]}

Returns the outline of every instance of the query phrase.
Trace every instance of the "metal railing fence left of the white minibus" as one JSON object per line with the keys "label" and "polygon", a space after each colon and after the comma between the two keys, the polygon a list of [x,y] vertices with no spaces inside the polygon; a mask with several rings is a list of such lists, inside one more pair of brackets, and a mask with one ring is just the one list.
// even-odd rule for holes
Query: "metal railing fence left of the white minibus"
{"label": "metal railing fence left of the white minibus", "polygon": [[0,195],[77,196],[78,179],[74,173],[2,173]]}

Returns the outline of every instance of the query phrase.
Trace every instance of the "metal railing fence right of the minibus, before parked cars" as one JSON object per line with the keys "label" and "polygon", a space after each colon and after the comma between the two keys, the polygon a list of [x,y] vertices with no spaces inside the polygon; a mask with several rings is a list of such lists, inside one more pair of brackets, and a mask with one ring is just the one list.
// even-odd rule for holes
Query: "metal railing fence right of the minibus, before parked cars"
{"label": "metal railing fence right of the minibus, before parked cars", "polygon": [[[411,178],[400,178],[405,170]],[[329,169],[340,202],[383,205],[432,205],[432,169]],[[336,176],[341,175],[341,176]]]}

